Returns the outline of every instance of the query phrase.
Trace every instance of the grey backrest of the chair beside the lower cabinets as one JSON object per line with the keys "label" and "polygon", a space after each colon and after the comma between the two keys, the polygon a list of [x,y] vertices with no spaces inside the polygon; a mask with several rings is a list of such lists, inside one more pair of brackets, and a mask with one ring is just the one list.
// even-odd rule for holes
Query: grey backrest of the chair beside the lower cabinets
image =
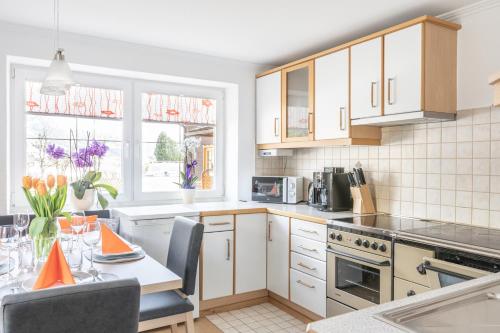
{"label": "grey backrest of the chair beside the lower cabinets", "polygon": [[203,228],[203,224],[196,221],[181,216],[175,217],[168,248],[167,268],[182,278],[181,291],[186,295],[194,294]]}

